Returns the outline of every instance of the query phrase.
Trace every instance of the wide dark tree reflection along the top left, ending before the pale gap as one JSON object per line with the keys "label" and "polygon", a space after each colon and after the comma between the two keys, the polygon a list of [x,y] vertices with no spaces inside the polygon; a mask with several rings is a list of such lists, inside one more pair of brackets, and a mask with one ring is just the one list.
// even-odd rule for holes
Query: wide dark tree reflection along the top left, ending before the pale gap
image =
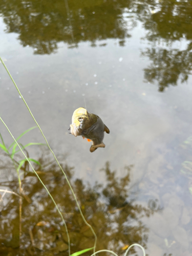
{"label": "wide dark tree reflection along the top left, ending before the pale gap", "polygon": [[35,54],[50,54],[60,41],[77,47],[81,41],[119,38],[120,44],[127,34],[123,10],[129,1],[104,2],[102,0],[56,2],[6,0],[0,4],[7,32],[19,34],[23,46],[31,46]]}

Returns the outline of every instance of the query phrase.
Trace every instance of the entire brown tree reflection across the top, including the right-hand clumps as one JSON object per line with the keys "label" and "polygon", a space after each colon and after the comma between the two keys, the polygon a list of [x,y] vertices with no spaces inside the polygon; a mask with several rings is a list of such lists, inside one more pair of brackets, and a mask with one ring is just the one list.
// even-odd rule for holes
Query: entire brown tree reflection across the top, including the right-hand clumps
{"label": "entire brown tree reflection across the top, including the right-hand clumps", "polygon": [[[117,38],[119,45],[125,46],[139,20],[146,32],[143,39],[151,45],[142,50],[142,56],[151,60],[144,69],[146,81],[157,81],[163,92],[179,80],[187,81],[192,69],[191,1],[2,0],[0,15],[6,32],[18,33],[21,44],[32,47],[34,54],[54,53],[58,42],[73,48],[90,41],[96,47]],[[182,41],[184,50],[178,46]]]}

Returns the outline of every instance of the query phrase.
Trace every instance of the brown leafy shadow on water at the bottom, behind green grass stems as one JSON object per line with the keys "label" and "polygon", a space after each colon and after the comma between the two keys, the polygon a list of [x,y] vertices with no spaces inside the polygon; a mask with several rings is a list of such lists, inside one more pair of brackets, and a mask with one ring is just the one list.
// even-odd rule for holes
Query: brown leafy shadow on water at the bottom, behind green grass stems
{"label": "brown leafy shadow on water at the bottom, behind green grass stems", "polygon": [[[84,224],[59,167],[47,153],[42,155],[39,162],[42,169],[39,166],[35,169],[66,220],[72,252],[92,247],[93,234]],[[9,174],[11,173],[8,162],[6,165],[1,164],[1,168],[9,169]],[[28,169],[27,165],[26,168]],[[148,229],[142,223],[141,217],[150,218],[161,209],[157,200],[149,200],[146,207],[135,203],[135,196],[130,188],[132,168],[133,165],[125,166],[124,177],[118,178],[116,172],[111,170],[109,162],[106,162],[100,170],[105,174],[103,184],[90,185],[84,184],[81,179],[75,179],[73,168],[63,165],[83,215],[97,234],[97,250],[108,248],[121,255],[133,243],[139,243],[146,248]],[[11,175],[9,179],[4,177],[0,185],[16,192],[18,181],[14,177],[14,167],[12,172],[12,179]],[[29,171],[24,171],[22,184],[22,236],[19,239],[19,199],[15,195],[6,194],[1,202],[0,254],[68,255],[65,228],[45,189]]]}

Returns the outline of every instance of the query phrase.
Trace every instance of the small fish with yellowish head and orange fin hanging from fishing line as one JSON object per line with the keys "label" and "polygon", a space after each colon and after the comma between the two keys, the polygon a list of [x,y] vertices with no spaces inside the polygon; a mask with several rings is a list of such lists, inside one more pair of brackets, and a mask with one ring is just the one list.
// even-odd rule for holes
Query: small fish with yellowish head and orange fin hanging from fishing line
{"label": "small fish with yellowish head and orange fin hanging from fishing line", "polygon": [[74,111],[69,130],[75,137],[82,136],[83,139],[87,138],[88,141],[92,141],[90,152],[94,152],[98,147],[105,147],[104,132],[110,133],[101,118],[89,113],[85,108],[78,108]]}

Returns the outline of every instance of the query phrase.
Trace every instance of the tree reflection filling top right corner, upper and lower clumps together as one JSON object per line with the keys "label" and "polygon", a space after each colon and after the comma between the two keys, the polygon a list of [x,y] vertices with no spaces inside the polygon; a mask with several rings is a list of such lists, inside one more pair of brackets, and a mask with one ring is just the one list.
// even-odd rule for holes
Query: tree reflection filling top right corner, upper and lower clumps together
{"label": "tree reflection filling top right corner, upper and lower clumps together", "polygon": [[[181,83],[187,81],[192,70],[192,3],[163,0],[146,4],[148,11],[144,8],[139,19],[147,31],[145,39],[153,44],[142,52],[152,61],[144,69],[144,77],[149,82],[157,80],[162,92],[169,85],[177,86],[179,79]],[[182,41],[185,50],[180,50]]]}

